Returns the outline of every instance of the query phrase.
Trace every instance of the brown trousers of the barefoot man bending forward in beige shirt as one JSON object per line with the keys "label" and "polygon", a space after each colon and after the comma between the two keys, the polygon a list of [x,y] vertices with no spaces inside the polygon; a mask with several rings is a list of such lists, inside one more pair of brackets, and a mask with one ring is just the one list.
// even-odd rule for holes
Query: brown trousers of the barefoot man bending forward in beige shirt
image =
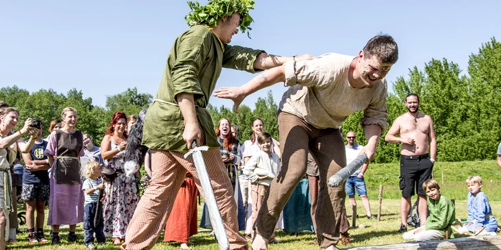
{"label": "brown trousers of the barefoot man bending forward in beige shirt", "polygon": [[319,129],[288,113],[279,113],[278,128],[282,166],[271,182],[254,225],[257,234],[270,238],[288,199],[306,174],[308,150],[319,166],[320,188],[316,211],[317,239],[322,248],[336,245],[345,203],[344,183],[329,188],[328,177],[346,166],[343,137],[339,129]]}

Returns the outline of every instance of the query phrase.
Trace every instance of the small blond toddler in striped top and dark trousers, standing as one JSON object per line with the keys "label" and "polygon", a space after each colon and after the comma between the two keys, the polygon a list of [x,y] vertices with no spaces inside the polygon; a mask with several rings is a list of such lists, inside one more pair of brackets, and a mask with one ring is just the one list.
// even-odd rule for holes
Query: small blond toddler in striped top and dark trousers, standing
{"label": "small blond toddler in striped top and dark trousers, standing", "polygon": [[94,246],[94,233],[98,244],[105,244],[106,238],[103,233],[103,220],[100,220],[99,225],[94,225],[94,217],[96,216],[96,208],[99,199],[99,190],[103,192],[105,185],[98,180],[101,176],[100,164],[98,161],[87,161],[85,164],[85,181],[83,182],[82,190],[84,192],[84,216],[83,229],[85,229],[85,246],[87,249],[96,249]]}

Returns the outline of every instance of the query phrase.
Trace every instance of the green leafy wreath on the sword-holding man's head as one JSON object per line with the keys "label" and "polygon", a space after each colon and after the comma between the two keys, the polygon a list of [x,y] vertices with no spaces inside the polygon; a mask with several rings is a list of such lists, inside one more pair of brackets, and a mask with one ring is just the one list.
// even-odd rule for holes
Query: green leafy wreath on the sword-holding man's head
{"label": "green leafy wreath on the sword-holding man's head", "polygon": [[252,30],[249,26],[254,21],[248,11],[254,9],[255,3],[253,0],[210,0],[206,5],[200,6],[198,1],[188,1],[191,12],[184,16],[184,19],[190,27],[197,24],[216,26],[217,21],[224,16],[238,13],[240,14],[239,30],[242,33],[247,31],[248,36],[248,30]]}

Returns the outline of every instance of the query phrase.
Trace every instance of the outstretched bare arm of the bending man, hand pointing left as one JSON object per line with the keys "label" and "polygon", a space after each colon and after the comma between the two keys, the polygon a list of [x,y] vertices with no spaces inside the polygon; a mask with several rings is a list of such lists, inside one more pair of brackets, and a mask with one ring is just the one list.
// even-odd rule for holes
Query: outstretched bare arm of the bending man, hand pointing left
{"label": "outstretched bare arm of the bending man, hand pointing left", "polygon": [[231,99],[235,103],[233,105],[233,111],[237,112],[238,106],[242,101],[259,89],[264,89],[270,87],[277,82],[285,82],[285,67],[279,66],[274,67],[260,73],[252,80],[248,81],[242,87],[222,87],[214,92],[214,96],[218,98]]}

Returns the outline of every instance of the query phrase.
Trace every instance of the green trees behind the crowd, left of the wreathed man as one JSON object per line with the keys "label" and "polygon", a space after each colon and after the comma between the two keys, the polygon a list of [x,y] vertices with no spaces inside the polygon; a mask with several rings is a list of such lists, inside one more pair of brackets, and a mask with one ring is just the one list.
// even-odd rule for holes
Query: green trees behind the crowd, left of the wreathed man
{"label": "green trees behind the crowd, left of the wreathed man", "polygon": [[106,97],[106,107],[92,105],[92,98],[83,98],[82,91],[71,89],[66,95],[56,93],[52,89],[40,89],[30,93],[17,86],[0,89],[0,100],[19,111],[17,129],[21,128],[28,117],[41,120],[43,137],[49,134],[49,124],[52,120],[61,120],[61,111],[72,106],[78,113],[76,129],[89,133],[94,138],[94,144],[99,145],[111,116],[115,111],[124,111],[126,115],[138,115],[147,108],[153,97],[147,93],[138,93],[136,88],[127,89],[117,95]]}

